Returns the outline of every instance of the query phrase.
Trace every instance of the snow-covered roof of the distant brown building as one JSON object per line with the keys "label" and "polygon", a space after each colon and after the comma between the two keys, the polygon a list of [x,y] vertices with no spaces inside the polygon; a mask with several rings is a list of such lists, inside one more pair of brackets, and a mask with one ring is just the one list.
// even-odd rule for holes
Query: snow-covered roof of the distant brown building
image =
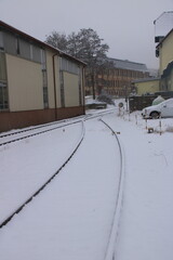
{"label": "snow-covered roof of the distant brown building", "polygon": [[131,69],[137,72],[148,72],[147,66],[143,63],[130,62],[128,60],[118,60],[118,58],[108,58],[110,62],[114,62],[116,68]]}

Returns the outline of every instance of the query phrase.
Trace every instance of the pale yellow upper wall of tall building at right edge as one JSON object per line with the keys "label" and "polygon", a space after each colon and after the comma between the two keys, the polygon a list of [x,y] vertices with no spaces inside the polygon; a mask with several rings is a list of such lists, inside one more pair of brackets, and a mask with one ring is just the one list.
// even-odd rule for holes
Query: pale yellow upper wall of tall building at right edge
{"label": "pale yellow upper wall of tall building at right edge", "polygon": [[160,75],[167,68],[168,64],[173,61],[173,31],[165,38],[160,47]]}

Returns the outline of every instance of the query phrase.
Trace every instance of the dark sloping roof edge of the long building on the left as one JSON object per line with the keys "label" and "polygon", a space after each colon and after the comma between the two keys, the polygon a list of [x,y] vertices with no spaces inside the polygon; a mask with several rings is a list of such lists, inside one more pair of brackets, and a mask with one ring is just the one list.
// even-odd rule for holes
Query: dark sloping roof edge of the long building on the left
{"label": "dark sloping roof edge of the long building on the left", "polygon": [[82,62],[82,61],[80,61],[80,60],[78,60],[78,58],[76,58],[76,57],[74,57],[74,56],[71,56],[71,55],[69,55],[69,54],[61,51],[59,49],[56,49],[56,48],[54,48],[54,47],[52,47],[52,46],[43,42],[43,41],[40,41],[40,40],[34,38],[32,36],[29,36],[29,35],[27,35],[27,34],[25,34],[24,31],[18,30],[18,29],[16,29],[16,28],[12,27],[12,26],[9,25],[9,24],[5,24],[5,23],[2,22],[2,21],[0,21],[0,29],[5,29],[5,30],[11,31],[11,32],[13,32],[13,34],[19,35],[19,36],[24,37],[25,39],[27,39],[28,41],[32,41],[32,42],[36,42],[36,43],[39,44],[39,46],[42,46],[42,47],[48,48],[48,49],[51,49],[51,50],[54,51],[56,54],[58,53],[59,56],[65,56],[65,57],[67,57],[67,58],[74,60],[74,61],[76,61],[77,63],[80,63],[80,64],[82,64],[82,65],[84,65],[84,66],[86,65],[84,62]]}

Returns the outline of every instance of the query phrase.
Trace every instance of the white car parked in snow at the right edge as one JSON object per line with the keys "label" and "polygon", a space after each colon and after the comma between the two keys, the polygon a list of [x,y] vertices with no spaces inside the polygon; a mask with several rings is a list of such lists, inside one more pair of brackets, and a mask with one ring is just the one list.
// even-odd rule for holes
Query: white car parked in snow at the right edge
{"label": "white car parked in snow at the right edge", "polygon": [[173,117],[173,99],[145,107],[142,110],[142,116],[143,118]]}

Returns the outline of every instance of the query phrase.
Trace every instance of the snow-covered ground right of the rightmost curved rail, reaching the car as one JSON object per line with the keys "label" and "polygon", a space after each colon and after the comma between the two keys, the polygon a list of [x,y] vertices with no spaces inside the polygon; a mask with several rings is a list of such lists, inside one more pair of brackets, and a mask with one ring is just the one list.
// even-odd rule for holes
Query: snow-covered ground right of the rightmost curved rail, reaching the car
{"label": "snow-covered ground right of the rightmost curved rail, reaching the car", "polygon": [[121,132],[125,155],[116,259],[173,259],[173,119],[161,119],[161,134],[160,120],[146,122],[139,112],[108,122]]}

